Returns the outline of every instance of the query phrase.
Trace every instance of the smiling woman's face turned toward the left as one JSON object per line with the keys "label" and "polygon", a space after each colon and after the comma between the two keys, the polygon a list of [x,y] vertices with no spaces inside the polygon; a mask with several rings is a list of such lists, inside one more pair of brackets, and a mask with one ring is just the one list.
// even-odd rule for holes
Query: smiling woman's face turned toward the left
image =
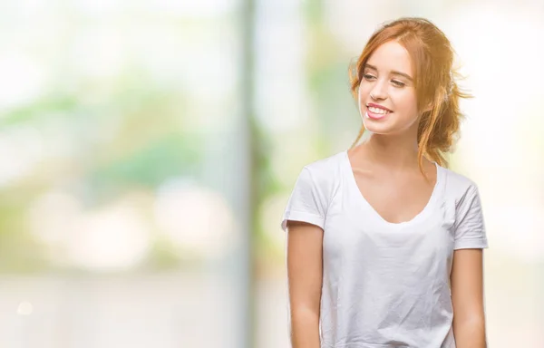
{"label": "smiling woman's face turned toward the left", "polygon": [[412,58],[400,43],[383,43],[370,55],[358,97],[366,130],[376,134],[415,130],[417,134]]}

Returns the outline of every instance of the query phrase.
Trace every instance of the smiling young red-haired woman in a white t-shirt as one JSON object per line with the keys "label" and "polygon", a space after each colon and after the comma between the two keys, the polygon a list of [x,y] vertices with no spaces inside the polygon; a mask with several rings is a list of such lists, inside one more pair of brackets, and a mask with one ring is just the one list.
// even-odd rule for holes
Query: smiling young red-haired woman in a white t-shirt
{"label": "smiling young red-haired woman in a white t-shirt", "polygon": [[479,191],[443,157],[468,96],[452,62],[421,18],[364,47],[351,74],[359,136],[302,169],[282,220],[294,348],[486,346]]}

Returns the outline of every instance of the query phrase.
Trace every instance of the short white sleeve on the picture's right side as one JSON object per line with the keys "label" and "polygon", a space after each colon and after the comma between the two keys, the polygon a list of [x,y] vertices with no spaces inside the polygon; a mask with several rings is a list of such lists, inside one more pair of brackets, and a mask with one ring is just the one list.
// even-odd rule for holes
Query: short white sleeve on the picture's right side
{"label": "short white sleeve on the picture's right side", "polygon": [[457,205],[454,231],[455,250],[488,247],[480,194],[474,184]]}

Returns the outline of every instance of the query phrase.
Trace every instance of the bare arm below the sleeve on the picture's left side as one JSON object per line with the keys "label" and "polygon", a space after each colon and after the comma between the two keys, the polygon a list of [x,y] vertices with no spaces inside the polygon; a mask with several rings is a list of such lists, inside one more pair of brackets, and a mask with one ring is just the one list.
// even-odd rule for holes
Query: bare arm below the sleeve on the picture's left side
{"label": "bare arm below the sleeve on the picture's left side", "polygon": [[319,348],[323,229],[292,220],[287,228],[291,344],[293,348]]}

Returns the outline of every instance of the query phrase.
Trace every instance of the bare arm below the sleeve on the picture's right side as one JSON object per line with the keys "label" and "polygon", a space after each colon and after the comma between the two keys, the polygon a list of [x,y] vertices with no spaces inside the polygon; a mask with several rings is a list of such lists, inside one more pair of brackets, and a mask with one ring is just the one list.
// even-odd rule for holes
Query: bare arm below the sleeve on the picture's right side
{"label": "bare arm below the sleeve on the picture's right side", "polygon": [[481,248],[454,251],[451,281],[455,345],[486,348]]}

